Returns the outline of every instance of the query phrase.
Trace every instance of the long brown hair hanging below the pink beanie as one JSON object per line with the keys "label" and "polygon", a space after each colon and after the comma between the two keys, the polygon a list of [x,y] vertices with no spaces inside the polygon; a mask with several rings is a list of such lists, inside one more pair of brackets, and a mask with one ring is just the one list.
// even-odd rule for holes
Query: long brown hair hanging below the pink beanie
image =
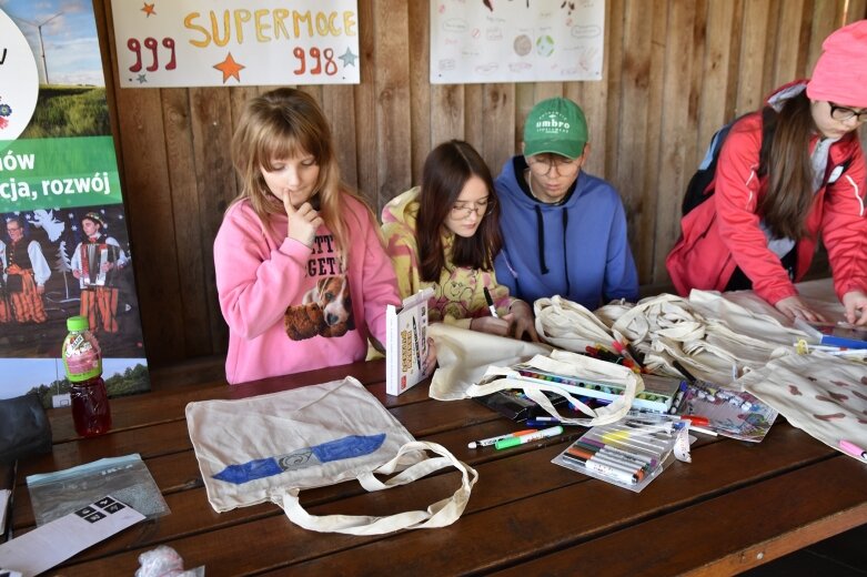
{"label": "long brown hair hanging below the pink beanie", "polygon": [[[773,117],[773,115],[772,115]],[[817,130],[806,92],[788,99],[776,119],[767,162],[768,189],[758,214],[777,239],[807,236],[807,215],[814,202],[809,141]]]}

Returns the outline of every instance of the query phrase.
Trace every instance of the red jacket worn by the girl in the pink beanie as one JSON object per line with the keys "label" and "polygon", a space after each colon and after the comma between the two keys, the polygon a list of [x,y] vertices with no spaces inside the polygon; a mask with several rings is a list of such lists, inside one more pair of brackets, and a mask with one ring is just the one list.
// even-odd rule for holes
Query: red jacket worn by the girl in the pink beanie
{"label": "red jacket worn by the girl in the pink beanie", "polygon": [[[793,82],[775,94],[797,84],[806,85],[806,81]],[[851,132],[830,146],[826,184],[816,193],[807,216],[809,235],[797,243],[796,281],[809,269],[821,232],[838,297],[855,290],[867,292],[867,192],[857,136]],[[797,294],[759,229],[756,206],[767,191],[767,179],[757,176],[760,141],[760,112],[738,121],[719,151],[710,184],[715,193],[681,221],[683,234],[665,263],[679,294],[687,295],[692,288],[723,291],[736,266],[770,304]],[[810,150],[817,141],[818,136],[810,141]],[[839,173],[835,169],[847,159],[848,168],[835,178]]]}

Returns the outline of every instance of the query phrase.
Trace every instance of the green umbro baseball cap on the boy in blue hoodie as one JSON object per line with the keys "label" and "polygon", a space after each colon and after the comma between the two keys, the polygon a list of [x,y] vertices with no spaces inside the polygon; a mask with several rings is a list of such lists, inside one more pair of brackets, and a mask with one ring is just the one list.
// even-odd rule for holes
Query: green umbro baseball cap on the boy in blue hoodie
{"label": "green umbro baseball cap on the boy in blue hoodie", "polygon": [[588,138],[587,119],[577,104],[565,98],[543,100],[524,123],[524,155],[553,153],[575,160]]}

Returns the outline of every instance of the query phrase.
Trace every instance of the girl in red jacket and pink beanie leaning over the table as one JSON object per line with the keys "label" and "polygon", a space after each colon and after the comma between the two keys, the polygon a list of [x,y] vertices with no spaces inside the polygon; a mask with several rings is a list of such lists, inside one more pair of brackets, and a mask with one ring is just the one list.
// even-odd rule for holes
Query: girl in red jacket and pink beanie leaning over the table
{"label": "girl in red jacket and pink beanie leaning over the table", "polygon": [[[821,235],[847,320],[867,324],[867,191],[856,131],[867,121],[867,20],[837,30],[823,49],[810,80],[777,89],[764,112],[732,126],[714,194],[684,216],[666,260],[682,295],[752,288],[789,318],[821,321],[794,285]],[[776,125],[759,159],[767,122]]]}

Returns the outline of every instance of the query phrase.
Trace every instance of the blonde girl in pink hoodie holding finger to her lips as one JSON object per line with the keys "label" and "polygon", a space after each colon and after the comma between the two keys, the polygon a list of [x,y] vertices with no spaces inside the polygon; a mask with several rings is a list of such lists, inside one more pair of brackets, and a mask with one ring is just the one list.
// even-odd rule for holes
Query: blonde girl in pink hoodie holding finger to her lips
{"label": "blonde girl in pink hoodie holding finger to her lips", "polygon": [[251,99],[232,158],[243,190],[214,241],[229,383],[360,361],[369,337],[381,347],[394,269],[316,102],[288,88]]}

